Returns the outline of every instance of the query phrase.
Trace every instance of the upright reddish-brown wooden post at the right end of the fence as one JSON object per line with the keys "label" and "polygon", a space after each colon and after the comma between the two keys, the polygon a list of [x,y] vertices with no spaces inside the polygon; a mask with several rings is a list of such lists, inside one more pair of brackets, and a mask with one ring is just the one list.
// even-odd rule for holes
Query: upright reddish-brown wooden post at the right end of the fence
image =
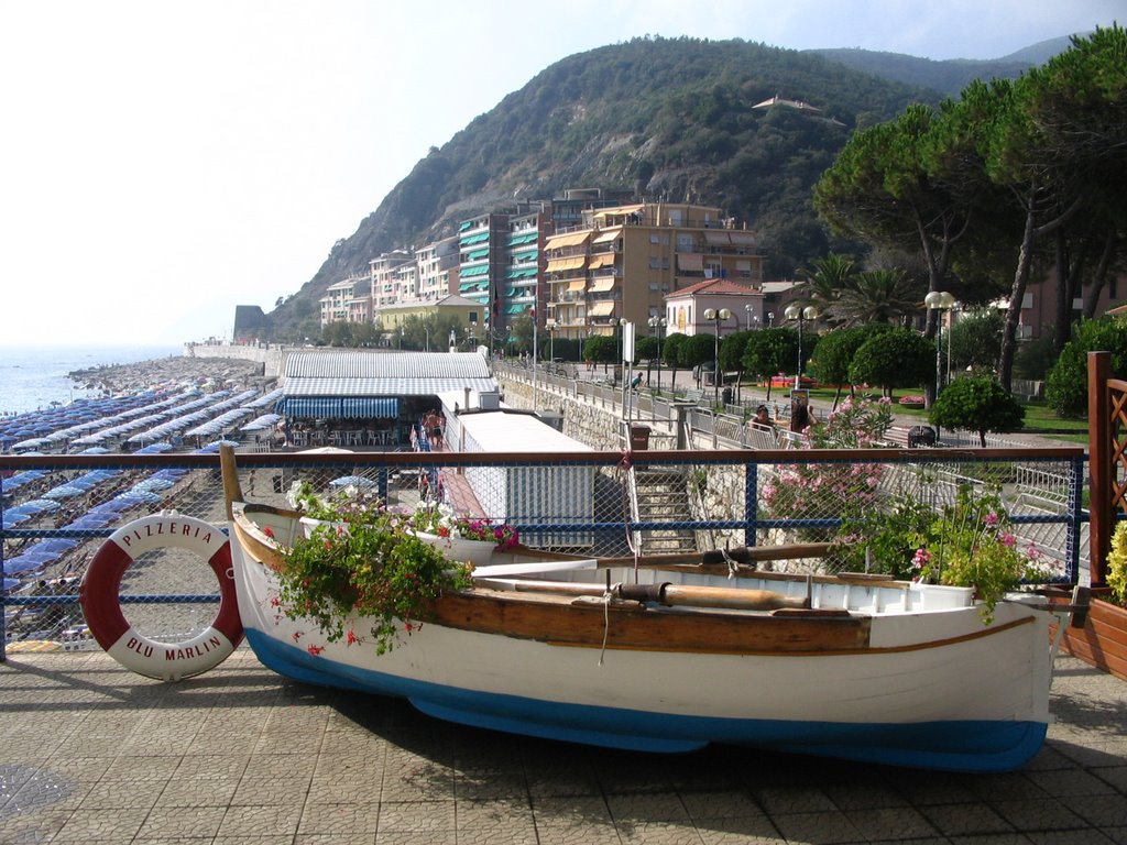
{"label": "upright reddish-brown wooden post at the right end of the fence", "polygon": [[1091,495],[1089,497],[1090,566],[1092,585],[1102,586],[1107,578],[1108,552],[1111,550],[1111,531],[1115,514],[1111,509],[1112,437],[1115,427],[1110,419],[1108,379],[1111,375],[1111,354],[1088,354],[1088,455]]}

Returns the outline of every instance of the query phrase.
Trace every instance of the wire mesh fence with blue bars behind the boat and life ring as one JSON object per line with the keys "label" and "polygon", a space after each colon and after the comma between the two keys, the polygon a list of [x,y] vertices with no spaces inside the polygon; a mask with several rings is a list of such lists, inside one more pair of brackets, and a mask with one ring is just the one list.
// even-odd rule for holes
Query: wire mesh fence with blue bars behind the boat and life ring
{"label": "wire mesh fence with blue bars behind the boat and life ring", "polygon": [[[442,500],[505,522],[534,548],[584,557],[684,555],[744,545],[824,542],[843,517],[911,498],[934,513],[960,488],[996,493],[1017,542],[1035,544],[1062,581],[1083,580],[1083,453],[1057,450],[636,451],[496,453],[238,453],[249,501],[287,506],[308,482],[326,496],[363,490],[412,510]],[[103,473],[89,480],[90,473]],[[96,648],[79,604],[81,579],[114,531],[175,510],[225,530],[215,455],[0,457],[6,644]],[[849,558],[849,555],[845,555]],[[778,570],[832,572],[852,560],[815,553]],[[127,621],[165,642],[190,639],[218,611],[206,561],[179,549],[126,570]]]}

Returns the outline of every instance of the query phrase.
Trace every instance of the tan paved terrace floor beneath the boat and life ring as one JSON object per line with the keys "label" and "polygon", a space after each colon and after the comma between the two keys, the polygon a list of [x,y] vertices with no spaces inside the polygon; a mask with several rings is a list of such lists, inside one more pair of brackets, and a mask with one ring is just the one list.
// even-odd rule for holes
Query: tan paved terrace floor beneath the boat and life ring
{"label": "tan paved terrace floor beneath the boat and life ring", "polygon": [[101,652],[0,664],[0,843],[1127,843],[1127,683],[1057,661],[1023,771],[606,751],[320,690],[246,648],[176,684]]}

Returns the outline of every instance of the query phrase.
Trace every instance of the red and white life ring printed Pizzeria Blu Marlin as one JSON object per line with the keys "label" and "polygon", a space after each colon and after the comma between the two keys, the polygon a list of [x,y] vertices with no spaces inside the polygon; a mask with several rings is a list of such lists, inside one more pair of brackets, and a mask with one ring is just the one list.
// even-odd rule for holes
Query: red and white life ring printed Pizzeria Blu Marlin
{"label": "red and white life ring printed Pizzeria Blu Marlin", "polygon": [[[203,633],[183,642],[159,642],[139,633],[118,599],[125,570],[145,552],[166,546],[195,552],[219,579],[219,614]],[[175,510],[135,519],[110,534],[86,570],[79,601],[98,644],[125,668],[158,681],[213,669],[242,642],[230,541],[214,525]]]}

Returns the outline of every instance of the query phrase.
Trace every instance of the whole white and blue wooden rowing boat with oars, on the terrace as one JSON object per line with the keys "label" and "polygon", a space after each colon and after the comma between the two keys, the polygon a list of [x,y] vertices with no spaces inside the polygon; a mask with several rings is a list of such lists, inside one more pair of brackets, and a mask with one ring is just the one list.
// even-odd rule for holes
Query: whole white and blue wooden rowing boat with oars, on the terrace
{"label": "whole white and blue wooden rowing boat with oars, on the terrace", "polygon": [[1014,601],[986,624],[958,588],[749,567],[729,579],[728,566],[668,555],[640,567],[495,555],[487,577],[440,598],[436,619],[388,653],[323,642],[270,606],[299,514],[243,501],[230,450],[223,471],[247,640],[298,681],[403,696],[463,724],[648,751],[722,742],[997,772],[1045,738],[1049,626],[1064,620]]}

